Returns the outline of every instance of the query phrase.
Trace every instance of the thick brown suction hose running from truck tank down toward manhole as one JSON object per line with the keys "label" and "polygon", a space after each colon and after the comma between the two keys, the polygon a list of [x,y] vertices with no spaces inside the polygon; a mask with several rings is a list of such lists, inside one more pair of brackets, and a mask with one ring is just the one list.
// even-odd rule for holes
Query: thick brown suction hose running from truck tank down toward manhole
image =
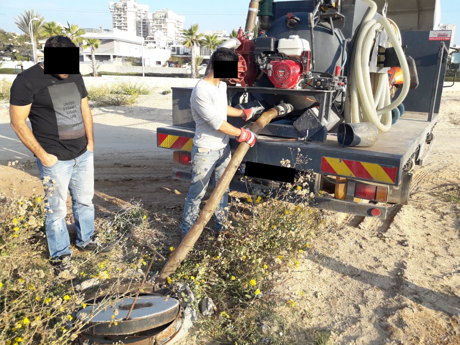
{"label": "thick brown suction hose running from truck tank down toward manhole", "polygon": [[[271,120],[275,119],[276,117],[284,116],[291,112],[293,107],[291,104],[279,104],[274,108],[271,108],[265,111],[262,115],[260,115],[259,119],[253,124],[251,127],[251,131],[256,134],[259,134],[262,129],[270,123]],[[240,166],[244,156],[249,150],[249,144],[246,142],[242,142],[235,151],[235,154],[232,156],[229,165],[225,168],[222,177],[220,178],[219,183],[217,184],[216,188],[213,190],[213,194],[207,201],[205,207],[201,211],[198,219],[196,219],[195,224],[192,225],[187,235],[185,235],[182,242],[180,242],[179,246],[173,252],[173,254],[169,257],[168,261],[161,269],[160,274],[155,278],[155,283],[162,283],[164,282],[167,277],[171,276],[174,271],[178,268],[179,264],[184,260],[185,256],[190,252],[190,250],[195,245],[196,240],[200,237],[201,232],[203,231],[204,226],[207,224],[209,219],[211,219],[214,211],[219,204],[219,201],[224,196],[225,191],[227,190],[228,186],[230,185],[230,181],[235,176],[238,167]]]}

